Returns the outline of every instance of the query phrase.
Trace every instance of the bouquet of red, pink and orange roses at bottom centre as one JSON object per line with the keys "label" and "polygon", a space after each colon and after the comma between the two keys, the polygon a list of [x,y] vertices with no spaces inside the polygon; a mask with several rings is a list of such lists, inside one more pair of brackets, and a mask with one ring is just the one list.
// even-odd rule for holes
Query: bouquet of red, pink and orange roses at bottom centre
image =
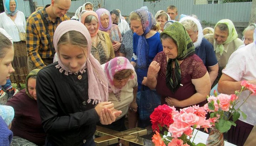
{"label": "bouquet of red, pink and orange roses at bottom centre", "polygon": [[211,126],[206,114],[204,108],[199,106],[183,108],[178,112],[174,107],[160,105],[150,115],[155,131],[152,141],[156,146],[196,146],[191,141],[194,129],[204,128],[207,131]]}

